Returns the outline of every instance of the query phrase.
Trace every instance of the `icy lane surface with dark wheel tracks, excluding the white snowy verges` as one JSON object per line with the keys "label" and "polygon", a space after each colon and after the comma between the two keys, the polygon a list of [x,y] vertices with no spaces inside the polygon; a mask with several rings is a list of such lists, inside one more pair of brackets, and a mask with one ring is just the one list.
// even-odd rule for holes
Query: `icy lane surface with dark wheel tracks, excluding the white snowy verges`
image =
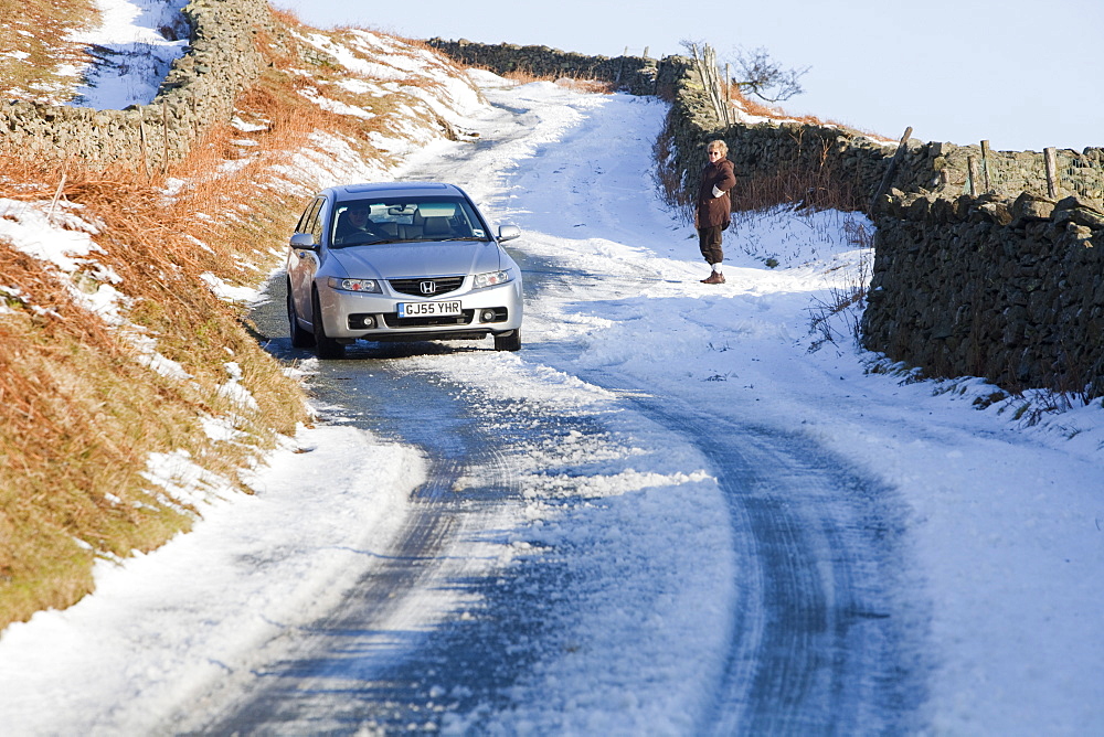
{"label": "icy lane surface with dark wheel tracks, excluding the white snowy verges", "polygon": [[[542,102],[549,87],[534,89]],[[204,731],[914,726],[923,617],[900,580],[893,490],[763,424],[754,399],[712,406],[708,383],[694,400],[578,364],[605,350],[588,323],[618,298],[687,288],[686,267],[620,258],[624,244],[693,244],[640,206],[665,108],[560,97],[539,114],[502,109],[478,145],[403,172],[456,182],[510,220],[549,212],[514,249],[526,346],[362,343],[317,365],[327,418],[417,447],[429,481],[341,606],[280,642]],[[597,256],[575,255],[588,245]],[[307,357],[287,348],[283,302],[277,279],[257,321],[280,357]],[[677,364],[668,351],[656,360]]]}

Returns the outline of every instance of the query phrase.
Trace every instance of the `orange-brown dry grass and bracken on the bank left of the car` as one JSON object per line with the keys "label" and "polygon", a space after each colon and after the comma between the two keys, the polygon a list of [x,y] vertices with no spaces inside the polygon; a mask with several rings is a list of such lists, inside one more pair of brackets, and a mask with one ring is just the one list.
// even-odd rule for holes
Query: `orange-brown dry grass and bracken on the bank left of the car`
{"label": "orange-brown dry grass and bracken on the bank left of the car", "polygon": [[[241,308],[199,277],[252,286],[270,269],[300,206],[265,188],[272,167],[333,120],[276,72],[242,96],[238,114],[264,128],[210,130],[168,172],[190,182],[172,200],[159,173],[0,159],[0,197],[49,203],[64,173],[60,206],[103,223],[94,239],[106,253],[95,259],[121,278],[127,319],[192,377],[146,367],[118,330],[74,302],[72,285],[94,290],[102,269],[70,277],[0,242],[9,295],[0,313],[0,627],[79,599],[95,559],[148,551],[188,528],[187,505],[142,477],[150,453],[187,451],[233,484],[277,434],[307,419],[298,383],[257,344]],[[255,146],[233,142],[246,137]],[[227,159],[240,167],[216,174]],[[258,409],[220,394],[227,362],[241,366]],[[212,440],[203,416],[232,421],[236,439]]]}

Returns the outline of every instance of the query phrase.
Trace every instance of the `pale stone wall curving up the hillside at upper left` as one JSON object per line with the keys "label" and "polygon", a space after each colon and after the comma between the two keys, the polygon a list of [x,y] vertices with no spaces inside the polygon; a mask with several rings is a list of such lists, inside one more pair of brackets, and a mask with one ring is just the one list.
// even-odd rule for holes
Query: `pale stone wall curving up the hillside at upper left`
{"label": "pale stone wall curving up the hillside at upper left", "polygon": [[0,104],[0,151],[136,169],[183,158],[200,131],[231,118],[238,93],[261,75],[255,36],[274,28],[267,0],[192,0],[183,12],[191,28],[188,52],[150,105],[95,110]]}

